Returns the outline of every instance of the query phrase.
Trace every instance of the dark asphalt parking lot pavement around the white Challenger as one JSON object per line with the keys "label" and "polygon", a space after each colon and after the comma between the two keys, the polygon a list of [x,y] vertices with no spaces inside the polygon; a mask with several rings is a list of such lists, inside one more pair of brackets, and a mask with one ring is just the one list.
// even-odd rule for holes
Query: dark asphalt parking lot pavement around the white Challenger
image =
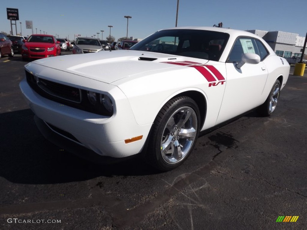
{"label": "dark asphalt parking lot pavement around the white Challenger", "polygon": [[138,157],[99,166],[45,140],[19,89],[24,65],[0,59],[0,229],[307,229],[307,71],[291,67],[271,117],[203,134],[181,167],[156,173]]}

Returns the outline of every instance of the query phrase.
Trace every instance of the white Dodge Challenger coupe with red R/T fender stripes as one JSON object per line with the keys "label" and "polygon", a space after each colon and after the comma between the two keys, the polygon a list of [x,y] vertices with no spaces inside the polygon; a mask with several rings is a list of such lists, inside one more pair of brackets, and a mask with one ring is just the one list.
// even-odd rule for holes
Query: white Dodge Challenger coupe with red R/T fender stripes
{"label": "white Dodge Challenger coupe with red R/T fender stripes", "polygon": [[53,143],[89,159],[142,152],[168,171],[188,158],[200,131],[256,107],[272,114],[289,71],[252,33],[177,27],[129,50],[33,61],[20,88]]}

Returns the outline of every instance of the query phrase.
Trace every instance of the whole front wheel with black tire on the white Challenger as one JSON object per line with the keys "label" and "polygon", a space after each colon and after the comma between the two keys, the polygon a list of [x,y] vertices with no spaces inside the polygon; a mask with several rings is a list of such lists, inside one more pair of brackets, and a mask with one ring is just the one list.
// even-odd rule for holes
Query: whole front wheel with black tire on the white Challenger
{"label": "whole front wheel with black tire on the white Challenger", "polygon": [[200,112],[192,98],[169,100],[153,122],[146,159],[159,171],[180,166],[194,148],[199,126]]}

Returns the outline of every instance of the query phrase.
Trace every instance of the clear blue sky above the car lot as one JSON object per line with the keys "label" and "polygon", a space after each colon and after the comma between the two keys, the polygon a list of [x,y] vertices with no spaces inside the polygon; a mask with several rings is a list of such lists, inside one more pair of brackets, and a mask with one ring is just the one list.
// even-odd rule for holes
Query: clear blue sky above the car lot
{"label": "clear blue sky above the car lot", "polygon": [[[297,33],[307,32],[306,0],[180,0],[178,26],[213,26],[223,22],[223,27],[233,29],[259,29]],[[0,8],[0,31],[10,33],[10,20],[6,8],[19,10],[17,33],[31,35],[25,21],[33,21],[33,32],[41,30],[73,40],[74,34],[97,37],[104,30],[103,39],[110,33],[117,40],[126,36],[145,38],[159,29],[175,27],[177,0],[14,0],[3,1]],[[15,27],[13,25],[14,35]]]}

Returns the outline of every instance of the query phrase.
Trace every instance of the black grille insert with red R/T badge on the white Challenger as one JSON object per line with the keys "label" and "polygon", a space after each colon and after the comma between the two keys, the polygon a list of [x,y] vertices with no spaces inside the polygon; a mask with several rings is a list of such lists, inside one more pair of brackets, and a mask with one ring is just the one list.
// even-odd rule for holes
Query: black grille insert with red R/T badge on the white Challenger
{"label": "black grille insert with red R/T badge on the white Challenger", "polygon": [[37,85],[46,93],[71,102],[81,102],[80,89],[38,78]]}

